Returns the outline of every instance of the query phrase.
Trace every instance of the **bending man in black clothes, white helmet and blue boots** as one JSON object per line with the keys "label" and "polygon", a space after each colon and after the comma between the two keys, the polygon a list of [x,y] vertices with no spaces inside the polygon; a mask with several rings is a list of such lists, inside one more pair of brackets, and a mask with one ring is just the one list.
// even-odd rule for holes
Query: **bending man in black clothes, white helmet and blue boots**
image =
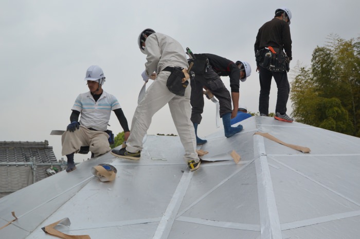
{"label": "bending man in black clothes, white helmet and blue boots", "polygon": [[[231,127],[230,119],[236,117],[238,113],[239,83],[240,81],[246,81],[246,78],[250,76],[251,67],[247,62],[238,61],[237,64],[235,64],[229,59],[214,54],[204,53],[194,54],[194,56],[196,58],[194,62],[195,71],[197,71],[197,66],[195,66],[195,64],[200,64],[206,68],[205,70],[201,69],[200,71],[195,72],[194,81],[190,81],[190,102],[192,106],[191,122],[195,129],[196,144],[202,145],[207,141],[197,136],[197,127],[201,123],[201,114],[204,110],[203,88],[210,91],[211,94],[219,99],[219,111],[224,125],[224,133],[226,137],[231,137],[243,129],[242,125]],[[206,65],[199,62],[203,61],[203,58],[206,59]],[[221,81],[220,76],[229,76],[231,95]],[[211,98],[209,95],[207,95],[207,97]]]}

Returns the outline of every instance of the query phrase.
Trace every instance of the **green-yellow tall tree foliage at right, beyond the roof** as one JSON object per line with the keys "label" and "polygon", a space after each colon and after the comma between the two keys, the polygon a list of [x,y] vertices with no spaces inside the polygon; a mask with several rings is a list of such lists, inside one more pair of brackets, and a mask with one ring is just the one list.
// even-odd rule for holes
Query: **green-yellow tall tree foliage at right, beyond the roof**
{"label": "green-yellow tall tree foliage at right, beyond the roof", "polygon": [[297,122],[360,136],[360,38],[328,40],[314,49],[310,68],[295,67],[292,115]]}

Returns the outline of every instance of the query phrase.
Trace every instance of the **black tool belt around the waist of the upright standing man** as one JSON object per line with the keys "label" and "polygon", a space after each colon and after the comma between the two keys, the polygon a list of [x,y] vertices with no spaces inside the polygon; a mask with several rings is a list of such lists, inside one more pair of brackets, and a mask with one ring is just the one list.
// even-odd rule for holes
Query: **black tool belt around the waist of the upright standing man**
{"label": "black tool belt around the waist of the upright standing man", "polygon": [[258,50],[255,54],[256,63],[269,71],[289,72],[290,67],[286,54],[278,48],[275,49],[281,53],[273,53],[266,48]]}

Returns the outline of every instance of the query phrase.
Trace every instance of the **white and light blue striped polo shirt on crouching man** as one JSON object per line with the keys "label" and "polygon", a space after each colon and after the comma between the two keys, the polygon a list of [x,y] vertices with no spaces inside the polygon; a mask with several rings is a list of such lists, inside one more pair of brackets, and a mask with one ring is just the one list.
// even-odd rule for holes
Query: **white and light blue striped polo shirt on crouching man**
{"label": "white and light blue striped polo shirt on crouching man", "polygon": [[116,97],[103,91],[97,102],[90,91],[79,94],[73,108],[80,114],[80,125],[86,128],[105,131],[110,121],[112,110],[121,108]]}

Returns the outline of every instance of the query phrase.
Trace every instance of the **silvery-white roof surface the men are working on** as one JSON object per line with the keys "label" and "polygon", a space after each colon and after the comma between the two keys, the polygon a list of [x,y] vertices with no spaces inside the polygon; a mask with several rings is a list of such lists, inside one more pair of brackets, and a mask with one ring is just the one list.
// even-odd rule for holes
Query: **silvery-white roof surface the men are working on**
{"label": "silvery-white roof surface the men are working on", "polygon": [[[41,228],[68,217],[95,238],[359,238],[360,138],[254,116],[230,138],[208,135],[190,172],[177,136],[149,135],[139,161],[110,153],[0,199],[0,238],[57,238]],[[302,153],[255,132],[311,149]],[[241,155],[236,164],[230,152]],[[116,179],[91,168],[107,163]]]}

